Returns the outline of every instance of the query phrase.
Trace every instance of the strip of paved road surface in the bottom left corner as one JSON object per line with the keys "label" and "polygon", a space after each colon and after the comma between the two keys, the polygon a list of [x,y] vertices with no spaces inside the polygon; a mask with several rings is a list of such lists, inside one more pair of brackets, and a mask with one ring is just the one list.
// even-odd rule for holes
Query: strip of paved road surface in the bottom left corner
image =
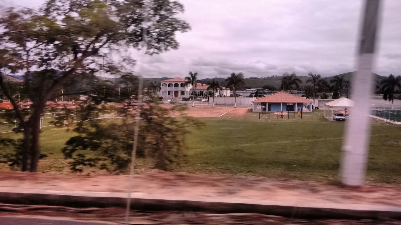
{"label": "strip of paved road surface in the bottom left corner", "polygon": [[0,217],[0,225],[109,225],[114,223],[96,223],[60,219],[38,219],[27,217]]}

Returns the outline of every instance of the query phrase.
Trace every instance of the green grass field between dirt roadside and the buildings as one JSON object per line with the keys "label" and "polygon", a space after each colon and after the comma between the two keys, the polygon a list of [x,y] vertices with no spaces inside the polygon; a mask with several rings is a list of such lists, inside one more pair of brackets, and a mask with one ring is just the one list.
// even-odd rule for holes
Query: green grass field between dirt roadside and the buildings
{"label": "green grass field between dirt roadside and the buildings", "polygon": [[[188,162],[177,171],[338,180],[345,123],[330,122],[318,110],[304,113],[302,120],[259,119],[259,113],[253,112],[243,117],[200,119],[206,126],[188,135]],[[401,184],[401,127],[378,120],[372,126],[367,180]],[[60,149],[71,136],[63,129],[43,129],[41,145],[48,157],[41,161],[40,171],[68,171]],[[139,159],[138,167],[148,168],[148,164]],[[3,164],[0,169],[7,167]]]}

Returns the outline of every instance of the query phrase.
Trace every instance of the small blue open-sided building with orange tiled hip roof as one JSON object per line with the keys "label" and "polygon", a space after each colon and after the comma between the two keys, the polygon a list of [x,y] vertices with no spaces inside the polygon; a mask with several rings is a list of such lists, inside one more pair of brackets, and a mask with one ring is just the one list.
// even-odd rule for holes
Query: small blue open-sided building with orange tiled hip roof
{"label": "small blue open-sided building with orange tiled hip roof", "polygon": [[284,91],[270,94],[252,101],[252,111],[303,111],[312,112],[313,101]]}

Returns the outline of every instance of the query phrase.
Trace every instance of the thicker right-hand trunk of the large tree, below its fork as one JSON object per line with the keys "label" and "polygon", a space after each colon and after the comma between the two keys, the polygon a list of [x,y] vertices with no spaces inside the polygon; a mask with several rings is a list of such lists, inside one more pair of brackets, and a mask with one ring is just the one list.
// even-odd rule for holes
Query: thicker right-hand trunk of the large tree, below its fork
{"label": "thicker right-hand trunk of the large tree, below its fork", "polygon": [[31,139],[30,139],[30,169],[29,172],[38,171],[39,156],[41,154],[41,149],[39,146],[39,135],[40,135],[40,113],[34,113],[32,115],[31,128]]}

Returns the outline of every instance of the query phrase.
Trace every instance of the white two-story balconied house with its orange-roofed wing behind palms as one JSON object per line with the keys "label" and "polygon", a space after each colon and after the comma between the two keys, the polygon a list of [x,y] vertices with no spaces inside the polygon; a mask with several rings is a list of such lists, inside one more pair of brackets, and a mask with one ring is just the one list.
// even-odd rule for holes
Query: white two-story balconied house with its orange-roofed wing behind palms
{"label": "white two-story balconied house with its orange-roofed wing behind palms", "polygon": [[[184,83],[186,80],[184,78],[176,77],[168,80],[160,81],[160,96],[162,97],[174,97],[174,98],[189,98],[192,96],[192,85]],[[207,84],[198,83],[195,87],[195,95],[203,95],[207,92]],[[230,96],[230,89],[221,87],[222,90],[217,90],[216,95]]]}

